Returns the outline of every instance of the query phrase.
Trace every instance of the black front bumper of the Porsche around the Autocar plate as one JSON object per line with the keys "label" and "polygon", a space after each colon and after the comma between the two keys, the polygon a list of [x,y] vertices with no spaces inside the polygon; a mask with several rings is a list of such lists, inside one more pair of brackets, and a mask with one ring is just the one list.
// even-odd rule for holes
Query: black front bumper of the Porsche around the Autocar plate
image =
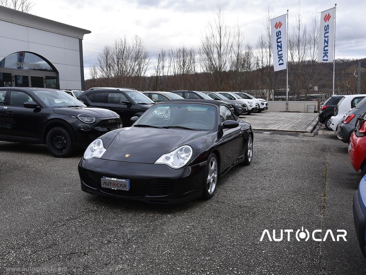
{"label": "black front bumper of the Porsche around the Autocar plate", "polygon": [[[81,189],[93,195],[150,203],[179,203],[202,196],[205,164],[172,169],[164,164],[143,164],[107,159],[82,159]],[[130,190],[101,187],[101,177],[130,180]]]}

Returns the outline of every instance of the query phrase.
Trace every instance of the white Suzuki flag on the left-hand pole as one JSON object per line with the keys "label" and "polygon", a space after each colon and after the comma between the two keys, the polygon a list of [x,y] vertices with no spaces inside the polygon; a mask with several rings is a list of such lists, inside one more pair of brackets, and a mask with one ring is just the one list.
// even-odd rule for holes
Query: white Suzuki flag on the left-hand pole
{"label": "white Suzuki flag on the left-hand pole", "polygon": [[275,72],[287,68],[286,14],[270,20],[273,68]]}

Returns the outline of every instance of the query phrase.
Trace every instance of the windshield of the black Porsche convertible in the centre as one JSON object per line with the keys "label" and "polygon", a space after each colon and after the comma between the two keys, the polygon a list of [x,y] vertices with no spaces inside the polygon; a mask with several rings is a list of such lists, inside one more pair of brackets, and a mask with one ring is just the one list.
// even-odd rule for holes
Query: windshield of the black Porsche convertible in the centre
{"label": "windshield of the black Porsche convertible in the centre", "polygon": [[200,103],[157,103],[141,115],[134,127],[189,128],[198,131],[216,129],[216,106]]}

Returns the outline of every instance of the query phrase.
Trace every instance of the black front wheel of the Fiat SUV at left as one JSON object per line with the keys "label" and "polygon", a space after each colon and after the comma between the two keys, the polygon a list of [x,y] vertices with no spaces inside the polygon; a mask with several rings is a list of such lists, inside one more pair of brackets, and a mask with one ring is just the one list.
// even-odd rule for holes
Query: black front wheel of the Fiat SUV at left
{"label": "black front wheel of the Fiat SUV at left", "polygon": [[48,151],[57,158],[66,158],[72,152],[72,139],[64,127],[52,128],[46,136]]}

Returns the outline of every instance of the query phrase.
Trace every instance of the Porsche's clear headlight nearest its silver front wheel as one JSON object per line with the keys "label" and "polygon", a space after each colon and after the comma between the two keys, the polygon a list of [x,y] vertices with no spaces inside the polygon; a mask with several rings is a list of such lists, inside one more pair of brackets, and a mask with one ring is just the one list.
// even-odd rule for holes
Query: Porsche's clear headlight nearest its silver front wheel
{"label": "Porsche's clear headlight nearest its silver front wheel", "polygon": [[162,155],[155,162],[156,164],[166,164],[171,168],[179,169],[188,163],[193,154],[193,149],[189,145],[183,145],[171,151],[170,153]]}

